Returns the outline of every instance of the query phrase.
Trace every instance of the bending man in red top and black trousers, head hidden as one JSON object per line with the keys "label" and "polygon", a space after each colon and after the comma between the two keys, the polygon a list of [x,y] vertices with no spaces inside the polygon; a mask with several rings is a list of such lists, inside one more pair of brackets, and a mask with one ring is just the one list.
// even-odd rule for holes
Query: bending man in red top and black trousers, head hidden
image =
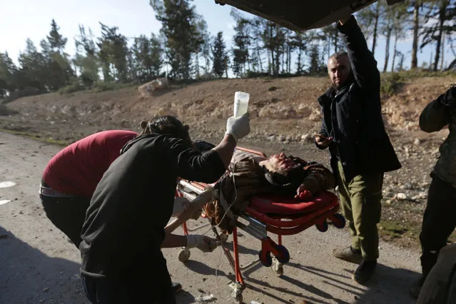
{"label": "bending man in red top and black trousers, head hidden", "polygon": [[57,153],[44,169],[39,193],[46,216],[77,248],[96,185],[121,148],[136,136],[123,130],[92,134]]}

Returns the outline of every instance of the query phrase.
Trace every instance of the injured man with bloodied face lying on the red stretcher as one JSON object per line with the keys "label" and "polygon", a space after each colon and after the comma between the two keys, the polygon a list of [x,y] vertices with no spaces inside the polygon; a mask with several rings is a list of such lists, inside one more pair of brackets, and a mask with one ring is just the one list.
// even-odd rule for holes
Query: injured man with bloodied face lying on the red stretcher
{"label": "injured man with bloodied face lying on the red stretcher", "polygon": [[[201,151],[212,148],[211,143],[203,141],[196,142],[196,146]],[[273,194],[288,198],[290,203],[302,203],[312,201],[321,191],[334,187],[333,173],[315,161],[304,161],[284,153],[266,158],[237,149],[226,175],[205,198],[198,196],[188,206],[182,203],[186,199],[176,198],[176,204],[186,205],[186,210],[167,228],[173,230],[178,224],[195,218],[195,211],[198,214],[203,207],[213,226],[218,226],[224,233],[232,233],[235,214],[245,211],[254,196]]]}

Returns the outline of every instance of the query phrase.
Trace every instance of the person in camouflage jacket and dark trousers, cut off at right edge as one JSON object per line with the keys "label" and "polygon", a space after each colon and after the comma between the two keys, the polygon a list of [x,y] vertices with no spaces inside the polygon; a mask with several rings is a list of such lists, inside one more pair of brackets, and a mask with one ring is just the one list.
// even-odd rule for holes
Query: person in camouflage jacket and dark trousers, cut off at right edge
{"label": "person in camouflage jacket and dark trousers, cut off at right edge", "polygon": [[450,133],[440,146],[440,157],[432,170],[432,182],[422,218],[420,242],[422,277],[410,294],[417,298],[421,287],[437,263],[440,250],[456,228],[456,86],[453,86],[422,110],[420,128],[427,133],[448,126]]}

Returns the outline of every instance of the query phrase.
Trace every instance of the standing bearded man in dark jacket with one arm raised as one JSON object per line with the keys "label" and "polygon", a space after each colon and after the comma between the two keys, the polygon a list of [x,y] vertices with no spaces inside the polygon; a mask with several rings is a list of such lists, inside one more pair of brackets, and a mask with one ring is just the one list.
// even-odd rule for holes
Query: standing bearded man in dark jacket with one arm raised
{"label": "standing bearded man in dark jacket with one arm raised", "polygon": [[383,174],[401,165],[382,120],[377,61],[353,16],[337,26],[347,52],[328,60],[333,86],[318,98],[323,122],[315,144],[329,147],[340,206],[352,235],[352,245],[333,254],[359,263],[353,280],[364,283],[377,265]]}

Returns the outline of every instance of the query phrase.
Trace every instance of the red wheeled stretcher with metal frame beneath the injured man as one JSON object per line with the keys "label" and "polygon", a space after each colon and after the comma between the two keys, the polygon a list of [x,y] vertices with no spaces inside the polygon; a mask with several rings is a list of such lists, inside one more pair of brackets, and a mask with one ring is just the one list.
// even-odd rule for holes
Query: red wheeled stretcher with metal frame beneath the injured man
{"label": "red wheeled stretcher with metal frame beneath the injured man", "polygon": [[[241,147],[237,147],[236,149],[267,157],[260,151]],[[188,189],[190,189],[190,192],[193,193],[193,196],[198,196],[200,193],[203,193],[203,191],[205,191],[208,186],[213,185],[180,180],[178,182],[178,188],[176,189],[176,196],[188,196],[189,193],[186,192]],[[328,219],[332,221],[333,225],[336,228],[343,228],[345,226],[345,218],[343,218],[343,216],[338,213],[338,197],[329,191],[324,192],[326,204],[322,208],[317,208],[313,211],[310,211],[309,213],[271,215],[247,207],[243,213],[238,215],[240,218],[248,221],[249,224],[245,225],[245,223],[236,221],[236,227],[233,229],[234,257],[231,255],[230,250],[222,245],[223,252],[228,258],[228,262],[230,263],[231,267],[233,268],[233,272],[235,273],[235,282],[230,284],[230,288],[233,289],[231,295],[233,298],[235,298],[235,300],[238,300],[239,302],[242,302],[243,300],[242,291],[245,289],[245,282],[243,280],[241,270],[245,270],[246,268],[249,268],[250,266],[260,261],[260,263],[267,267],[272,266],[273,271],[276,275],[280,276],[283,274],[283,265],[288,263],[290,260],[290,254],[282,243],[282,235],[295,235],[314,225],[321,232],[325,232],[328,230]],[[290,201],[290,198],[287,198],[286,201]],[[206,215],[204,213],[201,213],[201,217],[206,218]],[[203,226],[208,226],[208,224]],[[183,223],[183,233],[185,235],[188,235],[188,231],[198,230],[203,226],[190,229],[188,228],[187,223]],[[258,254],[259,258],[242,268],[239,264],[238,227],[261,241],[261,250]],[[213,227],[212,230],[214,233],[216,233],[217,238],[220,239],[220,235],[216,227]],[[275,243],[267,235],[268,232],[278,235],[278,243]],[[189,257],[190,253],[188,249],[183,249],[181,250],[181,253],[179,253],[179,260],[181,260],[181,262],[185,262]]]}

